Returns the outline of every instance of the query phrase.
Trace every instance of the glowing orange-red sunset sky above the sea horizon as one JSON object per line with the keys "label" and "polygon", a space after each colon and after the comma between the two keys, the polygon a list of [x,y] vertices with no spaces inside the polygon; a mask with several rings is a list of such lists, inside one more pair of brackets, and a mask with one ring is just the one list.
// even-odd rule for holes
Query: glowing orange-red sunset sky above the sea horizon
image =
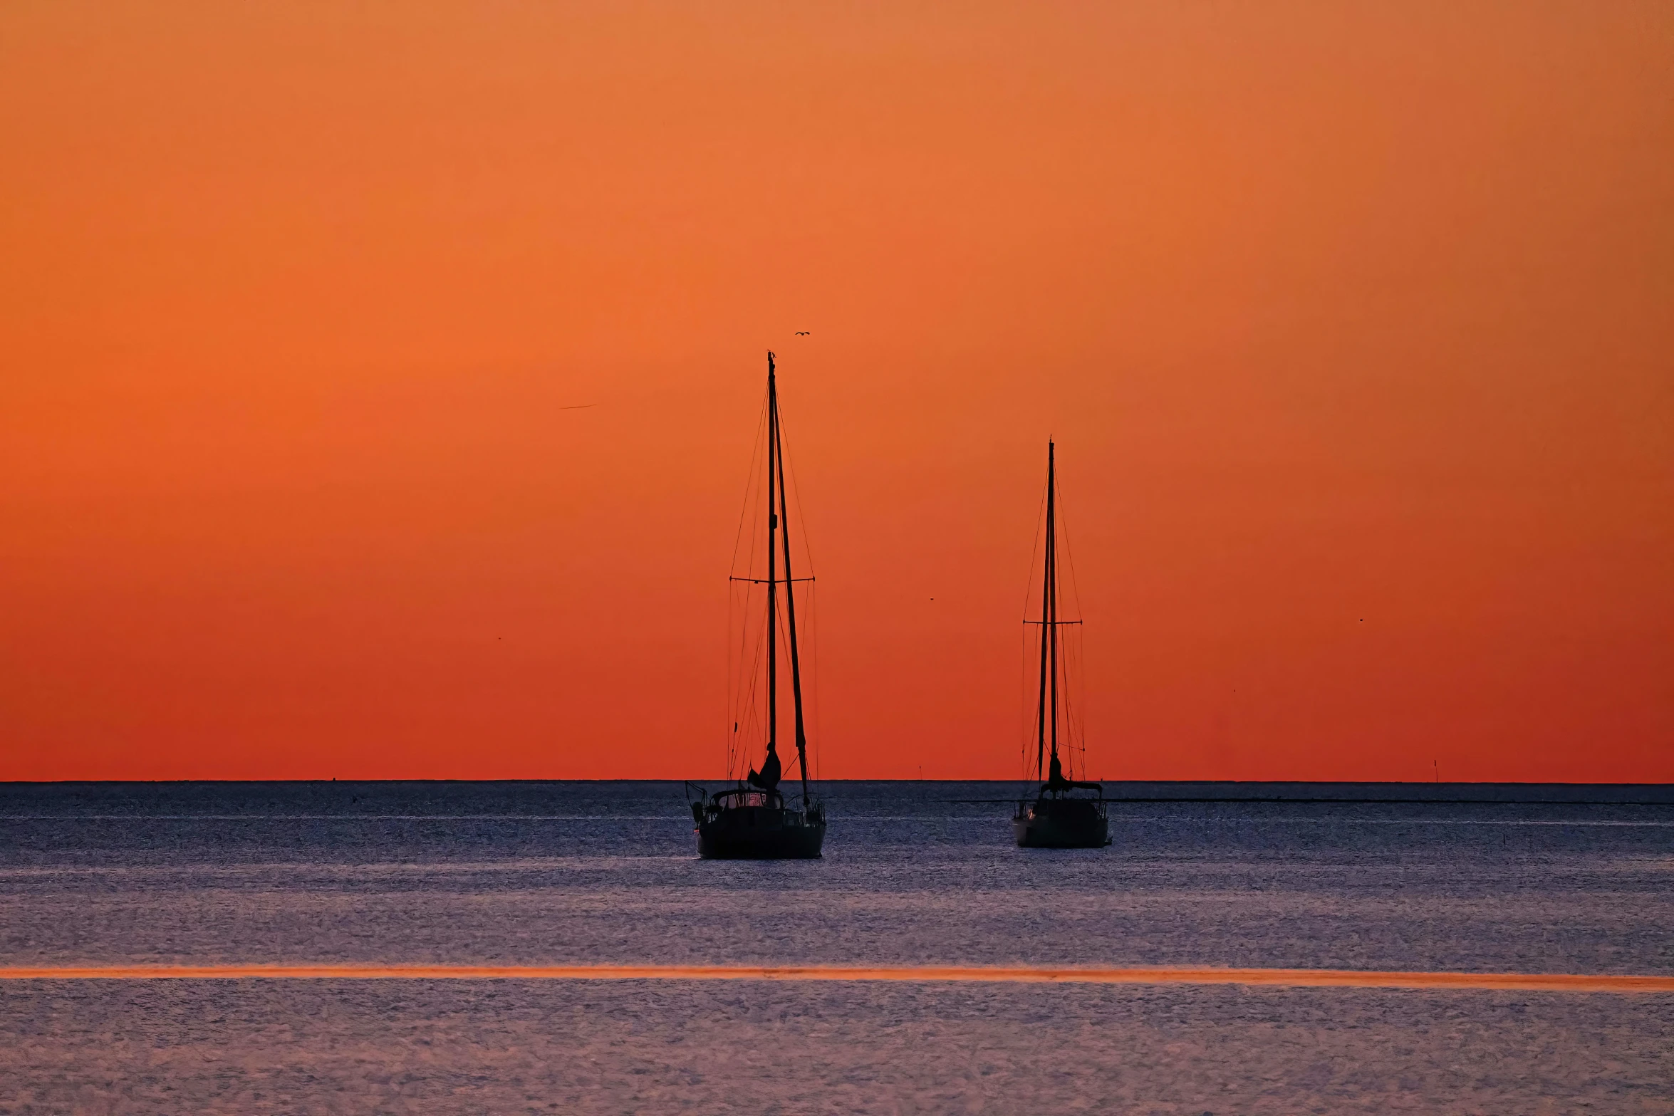
{"label": "glowing orange-red sunset sky above the sea horizon", "polygon": [[1667,3],[12,0],[0,202],[0,778],[713,776],[773,348],[825,776],[1051,433],[1091,775],[1674,780]]}

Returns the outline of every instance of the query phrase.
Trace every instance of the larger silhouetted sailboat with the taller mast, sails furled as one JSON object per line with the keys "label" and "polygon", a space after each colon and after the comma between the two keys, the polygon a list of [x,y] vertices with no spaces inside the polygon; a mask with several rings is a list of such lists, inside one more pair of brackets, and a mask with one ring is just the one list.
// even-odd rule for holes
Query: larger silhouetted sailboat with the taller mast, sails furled
{"label": "larger silhouetted sailboat with the taller mast, sails furled", "polygon": [[[780,571],[780,557],[783,571]],[[750,766],[747,778],[691,803],[698,855],[727,860],[792,860],[820,855],[825,843],[825,808],[809,795],[809,740],[802,711],[802,656],[797,646],[798,579],[790,574],[790,515],[785,499],[785,452],[778,425],[778,380],[773,353],[767,355],[767,577],[732,577],[733,582],[767,586],[767,753],[762,770]],[[804,579],[812,581],[812,579]],[[792,726],[797,768],[802,775],[800,806],[785,801],[778,785],[778,634],[780,587],[783,587],[783,634],[790,666]],[[750,691],[758,676],[752,671]],[[733,721],[738,733],[738,721]],[[735,768],[737,771],[737,768]]]}

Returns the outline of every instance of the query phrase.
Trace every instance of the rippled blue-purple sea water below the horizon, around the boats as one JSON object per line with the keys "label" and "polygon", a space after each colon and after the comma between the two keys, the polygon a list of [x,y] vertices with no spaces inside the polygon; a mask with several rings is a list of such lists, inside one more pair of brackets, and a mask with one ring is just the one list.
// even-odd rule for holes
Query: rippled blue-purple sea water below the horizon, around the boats
{"label": "rippled blue-purple sea water below the horizon, around the boats", "polygon": [[[1118,785],[1284,801],[1125,801],[1078,852],[1014,848],[1011,793],[827,783],[822,860],[740,863],[680,783],[0,785],[0,965],[1674,975],[1667,788]],[[0,1113],[728,1109],[1666,1114],[1674,996],[0,980]]]}

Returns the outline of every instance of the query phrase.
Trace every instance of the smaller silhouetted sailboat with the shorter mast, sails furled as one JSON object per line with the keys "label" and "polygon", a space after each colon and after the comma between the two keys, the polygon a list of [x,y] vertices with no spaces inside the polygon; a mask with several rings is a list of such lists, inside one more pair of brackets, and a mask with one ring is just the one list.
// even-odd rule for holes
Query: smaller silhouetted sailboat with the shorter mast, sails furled
{"label": "smaller silhouetted sailboat with the shorter mast, sails furled", "polygon": [[[1035,711],[1035,780],[1040,790],[1035,801],[1018,801],[1011,818],[1011,832],[1019,848],[1103,848],[1110,843],[1110,820],[1105,815],[1105,788],[1101,783],[1075,780],[1075,748],[1060,748],[1060,724],[1065,719],[1060,681],[1065,678],[1066,659],[1061,629],[1080,624],[1058,614],[1058,463],[1056,447],[1046,442],[1046,571],[1041,582],[1041,617],[1024,621],[1040,624],[1041,666],[1040,699]],[[1063,773],[1063,755],[1071,760],[1071,771]]]}

